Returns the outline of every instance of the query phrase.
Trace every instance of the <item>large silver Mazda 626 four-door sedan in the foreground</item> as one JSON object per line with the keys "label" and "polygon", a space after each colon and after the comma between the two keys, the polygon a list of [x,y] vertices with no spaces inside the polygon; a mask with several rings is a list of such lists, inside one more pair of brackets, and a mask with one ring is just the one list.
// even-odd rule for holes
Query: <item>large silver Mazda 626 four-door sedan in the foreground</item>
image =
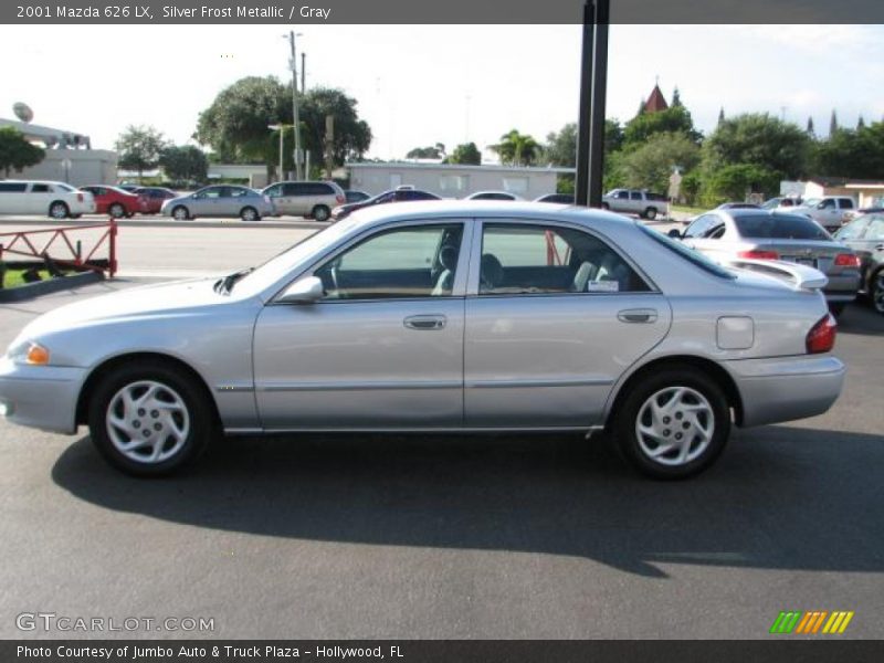
{"label": "large silver Mazda 626 four-door sedan in the foreground", "polygon": [[844,366],[810,267],[725,270],[640,223],[534,203],[364,210],[222,280],[31,323],[0,365],[13,422],[131,474],[221,431],[609,429],[681,477],[749,427],[824,412]]}

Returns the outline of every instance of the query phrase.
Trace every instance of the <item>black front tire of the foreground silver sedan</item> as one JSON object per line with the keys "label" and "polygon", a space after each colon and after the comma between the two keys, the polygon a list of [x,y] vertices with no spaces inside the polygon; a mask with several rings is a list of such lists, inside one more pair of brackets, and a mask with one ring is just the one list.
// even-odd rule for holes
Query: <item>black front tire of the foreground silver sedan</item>
{"label": "black front tire of the foreground silver sedan", "polygon": [[[164,410],[162,406],[151,409],[138,409],[129,414],[133,420],[125,417],[125,406],[118,399],[124,390],[129,393],[138,393],[139,389],[149,389],[145,383],[157,385],[156,399],[160,402],[175,402],[176,398],[181,410]],[[147,391],[145,391],[147,393]],[[176,398],[172,398],[176,397]],[[156,401],[155,401],[156,402]],[[123,432],[119,428],[108,423],[109,410],[114,408],[117,417],[125,424],[130,424],[128,432]],[[104,376],[96,388],[93,390],[88,400],[88,427],[92,441],[101,452],[102,456],[114,467],[133,476],[166,476],[182,470],[192,464],[206,450],[210,440],[219,434],[219,423],[213,403],[206,389],[182,369],[168,364],[136,360],[130,364],[118,366],[109,373]],[[175,418],[178,419],[175,419]],[[171,432],[166,432],[165,421],[175,419],[176,425],[185,428],[186,435],[179,435],[176,441]],[[137,423],[137,430],[135,427]],[[158,436],[154,439],[157,425]],[[110,429],[114,429],[112,438]],[[118,443],[126,442],[129,432],[149,433],[146,435],[144,446],[133,449],[128,454],[118,449]],[[140,438],[128,438],[130,442]],[[167,457],[156,461],[147,457],[158,445],[160,450],[166,450]],[[143,459],[140,456],[144,456]]]}

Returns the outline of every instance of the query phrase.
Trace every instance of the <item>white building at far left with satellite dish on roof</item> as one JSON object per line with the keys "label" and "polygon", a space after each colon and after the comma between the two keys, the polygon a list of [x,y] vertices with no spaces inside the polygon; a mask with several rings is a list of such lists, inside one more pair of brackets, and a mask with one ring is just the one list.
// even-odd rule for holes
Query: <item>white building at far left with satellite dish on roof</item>
{"label": "white building at far left with satellite dish on roof", "polygon": [[116,182],[117,154],[92,149],[88,136],[14,119],[0,118],[0,127],[18,129],[28,140],[46,149],[43,161],[21,172],[12,172],[11,177],[15,179],[55,180],[74,187]]}

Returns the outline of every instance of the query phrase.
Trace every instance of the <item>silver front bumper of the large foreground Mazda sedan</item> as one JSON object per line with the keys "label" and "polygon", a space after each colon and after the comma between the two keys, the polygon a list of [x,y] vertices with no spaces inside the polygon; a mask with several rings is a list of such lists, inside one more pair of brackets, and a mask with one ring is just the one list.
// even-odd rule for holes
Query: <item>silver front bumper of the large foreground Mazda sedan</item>
{"label": "silver front bumper of the large foreground Mazda sedan", "polygon": [[0,359],[0,412],[12,423],[55,433],[76,432],[76,400],[86,369],[22,366]]}

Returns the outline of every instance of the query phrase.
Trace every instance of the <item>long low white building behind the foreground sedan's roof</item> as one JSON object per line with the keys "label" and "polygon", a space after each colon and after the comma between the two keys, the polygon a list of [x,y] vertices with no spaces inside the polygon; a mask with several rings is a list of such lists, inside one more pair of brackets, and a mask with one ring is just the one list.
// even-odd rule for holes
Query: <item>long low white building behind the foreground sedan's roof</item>
{"label": "long low white building behind the foreground sedan's roof", "polygon": [[442,198],[465,198],[476,191],[508,191],[534,200],[556,192],[559,175],[573,168],[514,168],[448,164],[347,164],[350,188],[377,194],[410,185]]}

